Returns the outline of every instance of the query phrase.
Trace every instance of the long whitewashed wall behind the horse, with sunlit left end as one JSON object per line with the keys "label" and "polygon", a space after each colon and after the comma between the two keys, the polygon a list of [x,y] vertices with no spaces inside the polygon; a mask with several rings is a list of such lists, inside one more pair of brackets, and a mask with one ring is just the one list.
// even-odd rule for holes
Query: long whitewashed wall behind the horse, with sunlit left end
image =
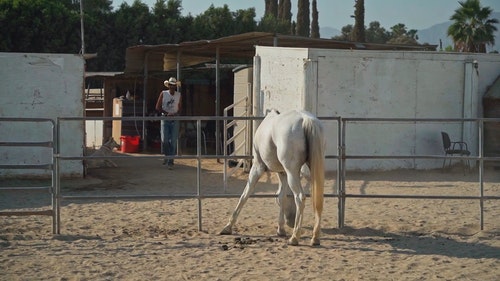
{"label": "long whitewashed wall behind the horse, with sunlit left end", "polygon": [[[319,117],[481,117],[482,96],[500,74],[500,56],[495,54],[259,46],[256,56],[261,62],[264,110],[306,109]],[[327,153],[334,155],[337,124],[324,124]],[[346,149],[350,155],[442,155],[441,131],[447,131],[453,140],[467,141],[473,154],[477,153],[474,123],[349,123]],[[356,170],[441,165],[439,159],[347,161],[347,168]],[[336,163],[328,161],[327,166],[333,170]]]}

